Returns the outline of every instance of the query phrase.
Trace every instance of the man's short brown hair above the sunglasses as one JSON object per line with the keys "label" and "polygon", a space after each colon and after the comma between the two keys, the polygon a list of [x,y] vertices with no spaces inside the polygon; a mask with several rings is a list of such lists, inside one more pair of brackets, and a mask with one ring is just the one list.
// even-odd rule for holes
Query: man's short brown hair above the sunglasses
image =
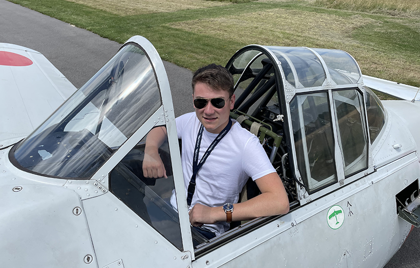
{"label": "man's short brown hair above the sunglasses", "polygon": [[229,97],[233,95],[233,77],[221,65],[211,63],[196,70],[192,76],[192,93],[194,93],[194,87],[197,82],[205,83],[215,90],[228,91]]}

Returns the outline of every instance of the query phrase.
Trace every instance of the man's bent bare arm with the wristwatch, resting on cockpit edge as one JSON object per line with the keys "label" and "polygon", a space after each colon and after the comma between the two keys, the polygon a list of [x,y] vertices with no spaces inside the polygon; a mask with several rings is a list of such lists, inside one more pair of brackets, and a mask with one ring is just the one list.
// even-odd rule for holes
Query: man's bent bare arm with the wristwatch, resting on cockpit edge
{"label": "man's bent bare arm with the wristwatch, resting on cockpit edge", "polygon": [[[232,221],[251,220],[262,216],[286,214],[289,212],[289,199],[283,183],[273,172],[255,180],[261,194],[243,203],[233,205]],[[189,211],[192,226],[225,222],[226,213],[222,206],[209,207],[196,204]]]}

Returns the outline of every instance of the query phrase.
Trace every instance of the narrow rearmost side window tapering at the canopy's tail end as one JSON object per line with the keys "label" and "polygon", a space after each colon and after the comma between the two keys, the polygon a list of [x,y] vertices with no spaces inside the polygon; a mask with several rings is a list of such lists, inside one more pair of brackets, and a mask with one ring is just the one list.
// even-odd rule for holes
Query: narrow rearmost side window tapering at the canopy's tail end
{"label": "narrow rearmost side window tapering at the canopy's tail end", "polygon": [[370,143],[373,144],[385,124],[385,111],[378,96],[376,96],[376,94],[373,93],[367,86],[365,86],[365,89]]}

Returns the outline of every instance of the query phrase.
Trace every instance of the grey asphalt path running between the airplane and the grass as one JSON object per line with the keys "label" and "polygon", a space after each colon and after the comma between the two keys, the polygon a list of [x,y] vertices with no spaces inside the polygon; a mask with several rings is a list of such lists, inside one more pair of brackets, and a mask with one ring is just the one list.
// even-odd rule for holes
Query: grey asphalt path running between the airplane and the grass
{"label": "grey asphalt path running between the airplane and the grass", "polygon": [[[41,52],[78,88],[121,46],[117,42],[5,0],[0,0],[0,42],[14,43]],[[164,64],[172,90],[175,114],[178,116],[192,111],[191,72],[169,62]],[[419,239],[420,230],[416,228],[385,268],[420,267]]]}

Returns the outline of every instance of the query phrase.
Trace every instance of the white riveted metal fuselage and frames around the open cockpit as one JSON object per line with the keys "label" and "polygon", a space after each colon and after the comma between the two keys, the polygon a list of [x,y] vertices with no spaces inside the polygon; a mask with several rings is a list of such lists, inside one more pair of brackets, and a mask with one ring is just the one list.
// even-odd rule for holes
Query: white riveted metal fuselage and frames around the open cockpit
{"label": "white riveted metal fuselage and frames around the open cockpit", "polygon": [[[395,196],[420,178],[420,124],[413,116],[420,114],[420,106],[384,102],[386,121],[376,141],[368,143],[368,169],[342,185],[337,182],[310,195],[302,194],[300,204],[296,202],[288,214],[195,255],[166,72],[149,41],[137,36],[127,42],[138,44],[150,59],[162,105],[89,180],[28,173],[10,162],[10,147],[0,148],[0,259],[5,267],[381,268],[402,245],[412,226],[397,215]],[[273,53],[267,53],[280,66]],[[279,69],[279,77],[287,85]],[[361,83],[343,87],[362,91]],[[321,86],[314,90],[319,89],[328,91],[333,103],[332,89]],[[300,88],[297,93],[304,90]],[[285,99],[289,103],[292,98]],[[330,106],[333,109],[333,104]],[[291,124],[290,107],[286,110]],[[168,132],[183,250],[108,191],[111,170],[150,129],[163,125]],[[333,131],[337,136],[335,124]],[[335,157],[341,159],[337,141],[335,147]],[[343,164],[336,168],[343,169]],[[344,174],[337,176],[344,179]],[[332,206],[340,206],[344,214],[342,225],[336,229],[327,223]]]}

